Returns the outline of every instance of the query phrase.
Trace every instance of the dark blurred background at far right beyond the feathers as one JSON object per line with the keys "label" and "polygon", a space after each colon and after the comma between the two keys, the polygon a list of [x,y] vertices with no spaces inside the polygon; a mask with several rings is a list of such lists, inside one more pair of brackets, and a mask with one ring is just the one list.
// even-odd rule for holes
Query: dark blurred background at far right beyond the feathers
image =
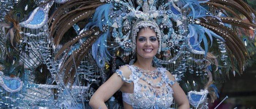
{"label": "dark blurred background at far right beyond the feathers", "polygon": [[[256,0],[244,0],[256,10]],[[239,33],[244,33],[241,30]],[[252,35],[252,34],[251,34]],[[256,45],[255,36],[248,37]],[[229,78],[224,83],[215,83],[219,89],[219,98],[214,102],[209,102],[209,108],[214,109],[226,96],[225,101],[217,109],[256,109],[256,55],[251,53],[251,61],[245,72],[234,76],[231,72]]]}

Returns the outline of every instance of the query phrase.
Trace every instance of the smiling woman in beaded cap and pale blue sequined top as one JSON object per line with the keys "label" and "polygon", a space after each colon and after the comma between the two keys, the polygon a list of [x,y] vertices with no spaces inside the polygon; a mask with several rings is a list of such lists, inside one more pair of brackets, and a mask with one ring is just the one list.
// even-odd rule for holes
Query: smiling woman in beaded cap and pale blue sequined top
{"label": "smiling woman in beaded cap and pale blue sequined top", "polygon": [[165,68],[153,67],[153,58],[159,51],[159,39],[162,37],[158,34],[159,28],[152,26],[155,25],[154,21],[140,21],[137,24],[133,28],[139,31],[132,31],[135,34],[131,35],[132,39],[136,39],[136,46],[133,47],[136,62],[121,66],[94,93],[89,105],[95,109],[106,108],[104,102],[120,89],[125,109],[170,108],[173,99],[179,109],[188,109],[188,99],[173,75]]}

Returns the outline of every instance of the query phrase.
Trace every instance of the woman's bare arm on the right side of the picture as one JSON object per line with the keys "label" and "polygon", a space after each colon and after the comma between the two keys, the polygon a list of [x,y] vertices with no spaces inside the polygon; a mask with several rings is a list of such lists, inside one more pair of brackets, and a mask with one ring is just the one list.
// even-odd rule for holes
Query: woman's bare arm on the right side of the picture
{"label": "woman's bare arm on the right side of the picture", "polygon": [[[170,72],[166,72],[167,76],[170,80],[174,81],[174,77]],[[178,109],[189,109],[189,102],[188,98],[185,94],[185,92],[181,89],[180,85],[178,85],[178,82],[175,82],[172,85],[173,89],[173,98],[174,101],[178,104]]]}

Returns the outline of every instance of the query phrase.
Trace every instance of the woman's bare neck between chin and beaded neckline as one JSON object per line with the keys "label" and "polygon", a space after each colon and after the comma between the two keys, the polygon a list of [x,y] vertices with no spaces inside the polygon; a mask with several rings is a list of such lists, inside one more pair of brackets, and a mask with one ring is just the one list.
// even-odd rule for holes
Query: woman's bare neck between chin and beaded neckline
{"label": "woman's bare neck between chin and beaded neckline", "polygon": [[154,67],[152,66],[152,58],[143,58],[139,55],[137,55],[137,61],[133,64],[138,66],[139,68],[142,68],[144,70],[154,70]]}

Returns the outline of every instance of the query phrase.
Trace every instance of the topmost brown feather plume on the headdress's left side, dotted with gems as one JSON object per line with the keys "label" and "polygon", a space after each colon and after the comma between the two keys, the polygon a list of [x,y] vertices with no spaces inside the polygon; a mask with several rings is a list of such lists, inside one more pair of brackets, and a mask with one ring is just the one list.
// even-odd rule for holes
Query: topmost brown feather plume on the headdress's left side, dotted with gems
{"label": "topmost brown feather plume on the headdress's left side, dotted with gems", "polygon": [[[64,33],[68,31],[69,28],[72,27],[75,23],[78,23],[81,20],[87,19],[90,17],[95,9],[102,5],[103,3],[99,1],[80,1],[82,4],[82,7],[79,7],[73,11],[70,11],[68,13],[60,14],[60,13],[54,13],[51,18],[57,19],[54,20],[53,23],[50,26],[50,37],[54,37],[54,44],[58,45],[60,40],[62,39]],[[74,5],[71,5],[74,7]],[[58,16],[56,16],[58,15]]]}

